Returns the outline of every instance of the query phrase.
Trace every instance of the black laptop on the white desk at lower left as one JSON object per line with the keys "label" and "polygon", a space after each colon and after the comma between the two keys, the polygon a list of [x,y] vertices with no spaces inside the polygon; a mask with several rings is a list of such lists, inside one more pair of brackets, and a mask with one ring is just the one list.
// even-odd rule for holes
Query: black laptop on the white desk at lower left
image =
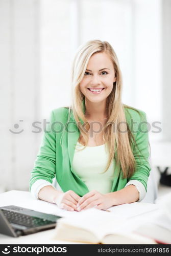
{"label": "black laptop on the white desk at lower left", "polygon": [[59,218],[62,217],[15,205],[0,207],[0,233],[11,237],[25,236],[55,228]]}

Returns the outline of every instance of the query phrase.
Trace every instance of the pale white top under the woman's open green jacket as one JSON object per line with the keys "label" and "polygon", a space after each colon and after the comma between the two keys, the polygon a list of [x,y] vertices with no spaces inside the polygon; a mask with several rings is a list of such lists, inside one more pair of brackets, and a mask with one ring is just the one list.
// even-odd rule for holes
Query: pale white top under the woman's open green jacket
{"label": "pale white top under the woman's open green jacket", "polygon": [[[89,191],[95,189],[102,194],[110,193],[113,185],[114,161],[105,173],[108,153],[105,144],[100,146],[84,146],[77,142],[72,162],[74,172],[84,181]],[[103,174],[101,174],[103,173]]]}

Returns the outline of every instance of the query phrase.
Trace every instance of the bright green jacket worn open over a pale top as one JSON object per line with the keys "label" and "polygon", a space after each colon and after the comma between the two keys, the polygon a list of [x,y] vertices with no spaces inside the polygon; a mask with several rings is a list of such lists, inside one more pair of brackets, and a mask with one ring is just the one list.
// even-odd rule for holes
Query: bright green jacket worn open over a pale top
{"label": "bright green jacket worn open over a pale top", "polygon": [[[84,100],[83,110],[85,113]],[[117,172],[115,172],[113,178],[111,192],[124,188],[129,180],[140,181],[146,190],[151,166],[148,161],[145,161],[144,157],[149,159],[149,139],[148,133],[144,132],[147,127],[145,124],[146,115],[143,111],[139,112],[140,115],[135,110],[125,108],[126,119],[129,125],[131,125],[131,119],[136,122],[134,125],[134,136],[141,152],[140,154],[137,148],[133,146],[133,154],[136,161],[135,173],[131,178],[125,179],[123,178],[122,170],[115,165]],[[47,125],[47,130],[43,133],[40,150],[31,172],[30,191],[32,184],[36,180],[43,179],[52,183],[53,178],[56,177],[58,184],[64,192],[71,189],[81,197],[89,192],[86,184],[78,177],[72,168],[75,145],[79,139],[80,132],[76,125],[73,114],[71,115],[70,121],[66,126],[65,124],[67,123],[67,118],[67,108],[58,108],[51,112],[50,123]],[[141,130],[138,129],[140,122],[143,122],[141,123]],[[65,128],[63,128],[64,125]],[[60,145],[60,140],[62,146]]]}

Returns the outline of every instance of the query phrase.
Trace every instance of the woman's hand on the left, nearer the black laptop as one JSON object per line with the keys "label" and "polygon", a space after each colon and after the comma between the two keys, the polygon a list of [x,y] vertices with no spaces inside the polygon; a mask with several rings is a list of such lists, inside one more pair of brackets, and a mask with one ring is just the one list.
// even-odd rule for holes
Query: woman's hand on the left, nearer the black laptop
{"label": "woman's hand on the left, nearer the black laptop", "polygon": [[61,208],[65,210],[77,210],[77,203],[81,199],[74,191],[68,190],[65,193],[61,192],[58,194],[55,203]]}

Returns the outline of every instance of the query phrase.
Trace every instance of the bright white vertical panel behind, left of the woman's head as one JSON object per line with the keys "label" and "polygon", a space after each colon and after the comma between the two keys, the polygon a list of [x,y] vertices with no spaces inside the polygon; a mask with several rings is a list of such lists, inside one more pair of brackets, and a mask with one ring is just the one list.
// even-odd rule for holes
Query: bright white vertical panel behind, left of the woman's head
{"label": "bright white vertical panel behind, left of the woman's head", "polygon": [[41,115],[68,105],[71,64],[70,2],[40,1]]}

